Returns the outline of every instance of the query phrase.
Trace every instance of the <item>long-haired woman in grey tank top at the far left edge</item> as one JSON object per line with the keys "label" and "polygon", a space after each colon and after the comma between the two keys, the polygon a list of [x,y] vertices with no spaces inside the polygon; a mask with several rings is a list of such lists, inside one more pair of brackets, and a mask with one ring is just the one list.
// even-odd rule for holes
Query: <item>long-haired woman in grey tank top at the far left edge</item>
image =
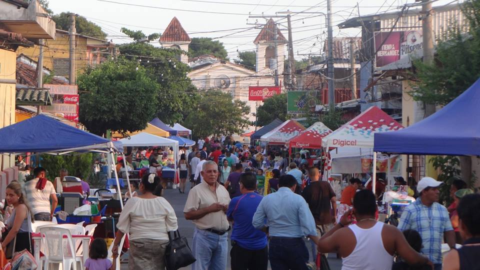
{"label": "long-haired woman in grey tank top at the far left edge", "polygon": [[[12,181],[6,186],[6,202],[13,206],[11,215],[6,220],[6,227],[2,229],[1,248],[4,250],[7,258],[11,256],[12,251],[21,251],[27,249],[32,251],[30,232],[32,214],[30,208],[25,202],[25,196],[21,191],[21,185],[17,181]],[[15,239],[16,238],[16,239]],[[11,249],[7,246],[11,245]],[[13,245],[15,249],[13,250]]]}

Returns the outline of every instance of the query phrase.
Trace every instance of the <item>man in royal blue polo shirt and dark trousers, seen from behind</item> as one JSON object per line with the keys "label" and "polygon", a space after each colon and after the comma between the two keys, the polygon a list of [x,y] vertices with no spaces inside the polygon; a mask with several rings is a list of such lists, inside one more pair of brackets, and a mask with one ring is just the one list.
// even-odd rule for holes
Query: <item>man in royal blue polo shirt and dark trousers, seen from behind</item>
{"label": "man in royal blue polo shirt and dark trousers, seen from behind", "polygon": [[266,234],[251,224],[256,207],[262,199],[262,196],[255,193],[255,188],[255,174],[242,173],[240,175],[242,195],[232,198],[226,211],[228,220],[233,221],[230,238],[232,270],[266,270],[268,266]]}

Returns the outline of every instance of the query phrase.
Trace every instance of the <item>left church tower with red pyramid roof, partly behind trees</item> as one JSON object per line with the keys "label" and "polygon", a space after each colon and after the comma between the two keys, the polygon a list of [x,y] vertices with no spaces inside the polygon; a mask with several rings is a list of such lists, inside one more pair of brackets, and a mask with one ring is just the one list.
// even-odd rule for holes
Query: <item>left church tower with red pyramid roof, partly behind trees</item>
{"label": "left church tower with red pyramid roof, partly behind trees", "polygon": [[186,52],[188,52],[188,45],[190,44],[191,39],[176,17],[171,19],[165,31],[161,34],[159,42],[162,48],[181,49],[183,52],[178,60],[188,64],[188,56],[186,55]]}

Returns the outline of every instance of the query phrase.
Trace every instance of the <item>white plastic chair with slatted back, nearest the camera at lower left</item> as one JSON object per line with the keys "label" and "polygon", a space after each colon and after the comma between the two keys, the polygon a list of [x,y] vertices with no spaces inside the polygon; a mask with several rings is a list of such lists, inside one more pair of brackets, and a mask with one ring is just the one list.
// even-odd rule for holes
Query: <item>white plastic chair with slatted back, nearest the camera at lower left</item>
{"label": "white plastic chair with slatted back, nearest the camera at lower left", "polygon": [[[68,229],[44,226],[40,228],[40,234],[41,241],[44,242],[43,246],[46,247],[45,256],[40,258],[45,262],[44,269],[48,270],[51,263],[61,263],[63,270],[71,268],[76,270],[77,262],[80,263],[80,269],[83,269],[82,257],[77,256],[74,252],[73,240]],[[66,235],[66,238],[63,238],[63,235]]]}

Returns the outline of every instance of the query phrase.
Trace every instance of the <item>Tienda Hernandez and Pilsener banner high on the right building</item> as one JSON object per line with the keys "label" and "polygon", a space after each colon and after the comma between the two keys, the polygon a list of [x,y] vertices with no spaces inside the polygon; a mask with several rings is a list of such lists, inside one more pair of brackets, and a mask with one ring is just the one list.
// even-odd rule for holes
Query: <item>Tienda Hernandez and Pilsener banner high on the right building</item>
{"label": "Tienda Hernandez and Pilsener banner high on the right building", "polygon": [[375,67],[394,63],[410,55],[422,56],[421,30],[375,32],[374,36]]}

